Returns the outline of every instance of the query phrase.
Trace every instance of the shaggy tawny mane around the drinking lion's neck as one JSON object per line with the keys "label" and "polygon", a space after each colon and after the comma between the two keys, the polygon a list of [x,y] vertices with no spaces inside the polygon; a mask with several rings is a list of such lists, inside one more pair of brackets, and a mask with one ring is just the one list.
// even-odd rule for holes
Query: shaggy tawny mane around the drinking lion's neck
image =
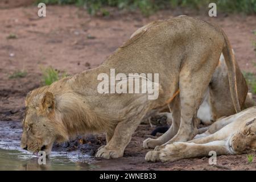
{"label": "shaggy tawny mane around the drinking lion's neck", "polygon": [[55,97],[55,110],[49,116],[55,129],[59,133],[57,140],[63,142],[70,137],[88,132],[102,132],[114,130],[115,122],[101,113],[95,113],[86,105],[86,98],[74,90],[69,89],[67,81],[71,77],[63,78],[52,85],[43,86],[28,93],[26,103],[33,98],[51,92]]}

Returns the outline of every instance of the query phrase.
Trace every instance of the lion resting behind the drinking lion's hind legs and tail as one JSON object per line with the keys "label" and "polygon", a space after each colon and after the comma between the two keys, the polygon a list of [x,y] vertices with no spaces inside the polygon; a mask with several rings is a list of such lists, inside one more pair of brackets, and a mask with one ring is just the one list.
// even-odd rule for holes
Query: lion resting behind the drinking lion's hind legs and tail
{"label": "lion resting behind the drinking lion's hind legs and tail", "polygon": [[[233,51],[234,53],[234,51]],[[246,80],[242,75],[242,72],[236,62],[236,79],[237,79],[237,90],[238,98],[240,101],[241,109],[254,106],[254,100],[251,93],[247,93],[248,87]],[[166,107],[163,113],[159,113],[152,118],[148,118],[150,125],[160,125],[157,123],[155,117],[166,118],[162,119],[163,124],[166,122],[171,125],[172,113],[168,113],[169,109]],[[220,56],[220,62],[213,73],[212,79],[210,80],[207,92],[205,93],[202,104],[197,111],[197,118],[200,119],[201,123],[212,124],[221,117],[228,117],[229,115],[235,114],[232,98],[229,92],[229,80],[228,80],[228,69],[226,68],[225,59],[223,54]]]}

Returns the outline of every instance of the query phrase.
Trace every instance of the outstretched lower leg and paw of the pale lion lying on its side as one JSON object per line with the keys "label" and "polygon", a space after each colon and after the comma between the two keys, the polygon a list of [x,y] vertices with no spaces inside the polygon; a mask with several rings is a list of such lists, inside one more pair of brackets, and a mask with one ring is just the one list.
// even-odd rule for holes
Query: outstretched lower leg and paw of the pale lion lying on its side
{"label": "outstretched lower leg and paw of the pale lion lying on its side", "polygon": [[209,156],[210,151],[215,151],[217,155],[226,155],[229,154],[229,150],[225,144],[225,140],[206,144],[175,142],[173,144],[167,144],[160,151],[147,152],[145,160],[148,162],[174,162],[180,159]]}

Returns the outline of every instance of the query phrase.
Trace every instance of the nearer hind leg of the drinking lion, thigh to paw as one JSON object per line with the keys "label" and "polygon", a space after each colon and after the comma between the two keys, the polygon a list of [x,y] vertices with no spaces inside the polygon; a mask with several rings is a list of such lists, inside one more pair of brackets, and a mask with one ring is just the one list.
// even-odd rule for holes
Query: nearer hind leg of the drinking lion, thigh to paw
{"label": "nearer hind leg of the drinking lion, thigh to paw", "polygon": [[[198,52],[197,52],[198,53]],[[181,105],[181,119],[180,127],[177,134],[165,144],[174,142],[187,142],[195,137],[197,134],[196,115],[204,94],[209,85],[212,74],[218,64],[220,52],[210,52],[205,55],[201,52],[198,55],[191,55],[189,59],[200,60],[195,61],[193,65],[191,62],[184,63],[180,71],[180,105]],[[196,67],[196,68],[195,68]],[[155,150],[160,150],[163,146],[158,146]]]}

